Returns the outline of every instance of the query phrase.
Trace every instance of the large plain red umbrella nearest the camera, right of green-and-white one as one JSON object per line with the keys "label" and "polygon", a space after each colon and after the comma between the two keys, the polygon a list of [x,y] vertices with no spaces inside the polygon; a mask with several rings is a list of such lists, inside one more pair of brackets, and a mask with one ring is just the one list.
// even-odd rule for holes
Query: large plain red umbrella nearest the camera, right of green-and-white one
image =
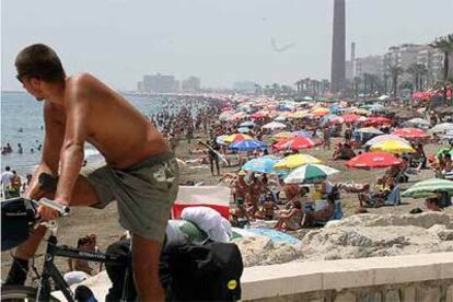
{"label": "large plain red umbrella nearest the camera, right of green-and-white one", "polygon": [[367,152],[346,162],[347,167],[371,169],[402,164],[400,159],[387,152]]}

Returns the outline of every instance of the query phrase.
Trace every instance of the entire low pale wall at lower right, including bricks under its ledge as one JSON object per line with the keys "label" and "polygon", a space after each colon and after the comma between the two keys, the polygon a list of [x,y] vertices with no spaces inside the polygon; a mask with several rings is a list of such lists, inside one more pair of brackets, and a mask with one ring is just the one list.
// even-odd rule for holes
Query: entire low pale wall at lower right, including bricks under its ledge
{"label": "entire low pale wall at lower right, including bricks under its ledge", "polygon": [[453,253],[251,267],[244,301],[452,301]]}

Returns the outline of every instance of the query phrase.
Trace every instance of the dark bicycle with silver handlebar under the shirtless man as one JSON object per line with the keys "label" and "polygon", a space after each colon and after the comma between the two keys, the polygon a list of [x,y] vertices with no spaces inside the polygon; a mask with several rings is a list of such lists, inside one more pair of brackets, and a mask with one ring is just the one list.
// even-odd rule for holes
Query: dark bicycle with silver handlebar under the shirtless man
{"label": "dark bicycle with silver handlebar under the shirtless man", "polygon": [[[60,217],[69,216],[69,208],[62,206],[54,200],[50,199],[40,199],[39,201],[26,199],[26,198],[15,198],[4,200],[7,201],[16,201],[16,202],[24,202],[25,208],[27,210],[34,211],[34,216],[32,221],[30,221],[30,228],[35,228],[36,225],[45,225],[51,232],[49,237],[47,239],[47,246],[46,253],[44,255],[44,266],[42,269],[40,275],[37,270],[33,267],[33,270],[37,275],[38,286],[37,287],[26,287],[26,286],[2,286],[1,287],[1,301],[59,301],[55,297],[51,295],[51,286],[50,279],[54,280],[55,288],[61,290],[62,294],[69,302],[76,302],[74,292],[65,281],[61,272],[58,270],[56,265],[54,264],[55,257],[66,257],[71,259],[82,259],[86,262],[95,262],[95,263],[104,263],[107,265],[118,265],[123,267],[127,267],[125,271],[125,282],[121,293],[121,301],[131,301],[132,298],[129,297],[130,291],[128,288],[129,278],[132,278],[130,266],[128,265],[129,258],[128,257],[119,257],[117,255],[112,254],[104,254],[101,252],[89,252],[89,251],[80,251],[76,248],[70,248],[67,246],[58,246],[57,240],[57,230],[58,230],[58,222],[49,221],[44,222],[40,221],[39,217],[36,216],[37,208],[39,205],[49,207],[54,210],[59,212]],[[11,217],[18,216],[18,213],[12,213]],[[20,216],[18,216],[20,217]],[[3,220],[2,220],[3,224]],[[3,225],[2,225],[3,228]],[[3,241],[3,237],[2,237]],[[3,244],[3,242],[2,242]]]}

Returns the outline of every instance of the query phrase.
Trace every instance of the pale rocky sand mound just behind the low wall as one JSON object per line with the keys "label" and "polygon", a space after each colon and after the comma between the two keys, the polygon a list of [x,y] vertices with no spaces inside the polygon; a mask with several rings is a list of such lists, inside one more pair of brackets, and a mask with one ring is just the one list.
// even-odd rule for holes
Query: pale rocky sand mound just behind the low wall
{"label": "pale rocky sand mound just behind the low wall", "polygon": [[453,225],[448,214],[439,212],[358,214],[310,231],[302,247],[265,237],[245,237],[236,244],[245,266],[451,252]]}

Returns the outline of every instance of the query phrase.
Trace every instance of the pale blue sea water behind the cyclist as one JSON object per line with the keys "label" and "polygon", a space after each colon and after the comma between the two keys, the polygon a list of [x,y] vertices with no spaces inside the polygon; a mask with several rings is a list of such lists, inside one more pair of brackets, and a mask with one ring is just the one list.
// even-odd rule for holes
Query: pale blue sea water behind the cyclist
{"label": "pale blue sea water behind the cyclist", "polygon": [[[185,100],[174,96],[125,95],[142,114],[151,116],[160,112],[177,113]],[[198,107],[206,103],[198,104]],[[193,113],[198,108],[194,106]],[[106,125],[108,127],[108,125]],[[1,92],[1,146],[10,143],[13,152],[1,155],[1,170],[7,165],[25,176],[39,163],[39,144],[44,144],[43,103],[25,92]],[[23,153],[18,153],[18,143]],[[32,152],[33,149],[33,152]],[[90,162],[100,158],[97,150],[86,143],[85,159]]]}

